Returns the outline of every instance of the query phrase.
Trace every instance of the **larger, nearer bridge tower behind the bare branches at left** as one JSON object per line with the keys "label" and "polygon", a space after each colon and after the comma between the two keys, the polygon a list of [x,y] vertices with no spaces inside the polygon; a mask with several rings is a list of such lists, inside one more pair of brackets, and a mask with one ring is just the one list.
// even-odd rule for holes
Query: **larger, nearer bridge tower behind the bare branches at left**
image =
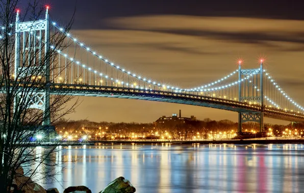
{"label": "larger, nearer bridge tower behind the bare branches at left", "polygon": [[[19,11],[17,11],[15,23],[15,78],[17,78],[16,75],[19,75],[19,77],[26,76],[22,74],[23,72],[27,72],[28,76],[31,72],[37,72],[37,69],[39,69],[37,66],[44,66],[44,72],[42,73],[45,80],[44,91],[34,93],[35,95],[32,97],[35,99],[31,100],[32,103],[30,105],[30,108],[41,109],[43,111],[44,118],[42,125],[44,126],[50,126],[48,21],[48,7],[46,7],[45,19],[20,22]],[[23,100],[20,94],[15,97],[15,106],[18,100]]]}

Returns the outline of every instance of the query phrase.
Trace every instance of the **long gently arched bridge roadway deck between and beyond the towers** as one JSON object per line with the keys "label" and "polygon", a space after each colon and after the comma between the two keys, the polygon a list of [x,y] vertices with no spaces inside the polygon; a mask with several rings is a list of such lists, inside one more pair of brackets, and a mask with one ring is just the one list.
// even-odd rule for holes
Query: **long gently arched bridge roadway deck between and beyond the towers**
{"label": "long gently arched bridge roadway deck between and beyond the towers", "polygon": [[[118,99],[137,99],[210,107],[233,112],[261,112],[261,106],[233,100],[208,97],[181,92],[144,90],[139,88],[125,88],[98,85],[52,84],[50,94],[67,94],[87,97],[107,97]],[[301,122],[304,114],[289,112],[275,108],[264,107],[264,116],[269,118]]]}

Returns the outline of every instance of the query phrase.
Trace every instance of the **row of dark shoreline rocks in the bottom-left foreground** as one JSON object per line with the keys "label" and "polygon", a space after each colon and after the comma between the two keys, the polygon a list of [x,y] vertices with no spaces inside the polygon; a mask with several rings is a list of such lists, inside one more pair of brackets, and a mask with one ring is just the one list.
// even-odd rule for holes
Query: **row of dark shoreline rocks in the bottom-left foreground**
{"label": "row of dark shoreline rocks in the bottom-left foreground", "polygon": [[[11,193],[60,193],[57,188],[44,189],[41,185],[33,182],[29,177],[24,176],[22,168],[18,168],[16,173],[17,175],[11,186]],[[20,188],[21,186],[22,188]],[[129,180],[119,177],[99,193],[133,193],[135,191],[135,187]],[[92,193],[92,191],[86,186],[70,186],[63,193]]]}

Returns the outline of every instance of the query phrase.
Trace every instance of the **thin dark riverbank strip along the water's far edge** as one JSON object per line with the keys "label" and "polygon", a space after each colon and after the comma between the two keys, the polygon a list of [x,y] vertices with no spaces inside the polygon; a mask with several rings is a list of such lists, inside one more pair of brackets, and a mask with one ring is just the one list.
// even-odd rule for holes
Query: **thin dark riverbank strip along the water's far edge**
{"label": "thin dark riverbank strip along the water's far edge", "polygon": [[281,139],[281,140],[213,140],[213,141],[90,141],[90,143],[98,144],[303,144],[304,139]]}

